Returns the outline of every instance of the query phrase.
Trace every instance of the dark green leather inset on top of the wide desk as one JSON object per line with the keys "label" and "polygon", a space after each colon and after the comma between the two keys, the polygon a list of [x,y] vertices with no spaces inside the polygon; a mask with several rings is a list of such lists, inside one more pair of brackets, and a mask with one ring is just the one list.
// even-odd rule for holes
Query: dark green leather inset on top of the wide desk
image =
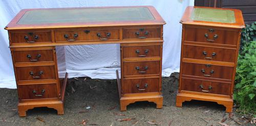
{"label": "dark green leather inset on top of the wide desk", "polygon": [[70,23],[95,21],[154,20],[146,7],[133,8],[81,8],[27,11],[17,24]]}

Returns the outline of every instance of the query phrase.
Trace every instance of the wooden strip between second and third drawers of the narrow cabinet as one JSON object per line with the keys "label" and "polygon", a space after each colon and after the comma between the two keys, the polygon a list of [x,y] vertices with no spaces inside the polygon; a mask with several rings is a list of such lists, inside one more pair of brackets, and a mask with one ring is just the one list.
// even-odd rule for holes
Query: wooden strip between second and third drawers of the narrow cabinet
{"label": "wooden strip between second and third drawers of the narrow cabinet", "polygon": [[196,63],[196,64],[210,64],[210,65],[217,65],[217,66],[234,67],[234,62],[212,61],[212,60],[193,59],[193,58],[182,58],[182,61]]}

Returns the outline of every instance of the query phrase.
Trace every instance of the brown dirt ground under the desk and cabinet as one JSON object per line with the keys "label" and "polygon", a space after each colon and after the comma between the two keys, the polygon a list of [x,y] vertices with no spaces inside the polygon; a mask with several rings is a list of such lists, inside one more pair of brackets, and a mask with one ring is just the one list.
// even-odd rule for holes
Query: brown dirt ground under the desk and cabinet
{"label": "brown dirt ground under the desk and cabinet", "polygon": [[64,115],[57,115],[54,109],[35,108],[27,111],[26,117],[19,117],[17,90],[0,88],[0,125],[83,125],[85,122],[82,124],[82,120],[86,125],[106,126],[221,125],[218,122],[239,125],[234,120],[241,115],[234,113],[232,118],[228,118],[225,107],[214,102],[190,101],[183,103],[182,108],[176,107],[178,76],[179,73],[173,73],[162,78],[162,109],[156,109],[154,103],[136,102],[127,106],[124,112],[119,111],[116,80],[69,79]]}

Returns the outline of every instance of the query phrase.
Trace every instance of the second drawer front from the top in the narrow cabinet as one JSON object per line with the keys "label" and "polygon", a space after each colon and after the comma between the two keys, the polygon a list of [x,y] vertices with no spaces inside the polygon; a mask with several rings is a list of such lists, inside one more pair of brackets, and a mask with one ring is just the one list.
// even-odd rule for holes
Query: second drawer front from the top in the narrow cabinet
{"label": "second drawer front from the top in the narrow cabinet", "polygon": [[183,58],[234,62],[236,60],[236,49],[184,45]]}

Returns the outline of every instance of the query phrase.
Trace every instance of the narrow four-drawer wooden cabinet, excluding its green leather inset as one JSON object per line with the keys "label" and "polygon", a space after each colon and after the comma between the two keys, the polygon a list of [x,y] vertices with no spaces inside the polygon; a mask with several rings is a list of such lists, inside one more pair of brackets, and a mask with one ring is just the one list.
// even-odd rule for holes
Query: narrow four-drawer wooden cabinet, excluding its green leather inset
{"label": "narrow four-drawer wooden cabinet, excluding its green leather inset", "polygon": [[232,112],[234,77],[241,28],[244,27],[241,11],[230,9],[236,23],[221,23],[191,20],[193,8],[200,7],[187,7],[181,19],[180,83],[176,106],[182,107],[185,101],[202,100],[217,102],[226,107],[226,112]]}

